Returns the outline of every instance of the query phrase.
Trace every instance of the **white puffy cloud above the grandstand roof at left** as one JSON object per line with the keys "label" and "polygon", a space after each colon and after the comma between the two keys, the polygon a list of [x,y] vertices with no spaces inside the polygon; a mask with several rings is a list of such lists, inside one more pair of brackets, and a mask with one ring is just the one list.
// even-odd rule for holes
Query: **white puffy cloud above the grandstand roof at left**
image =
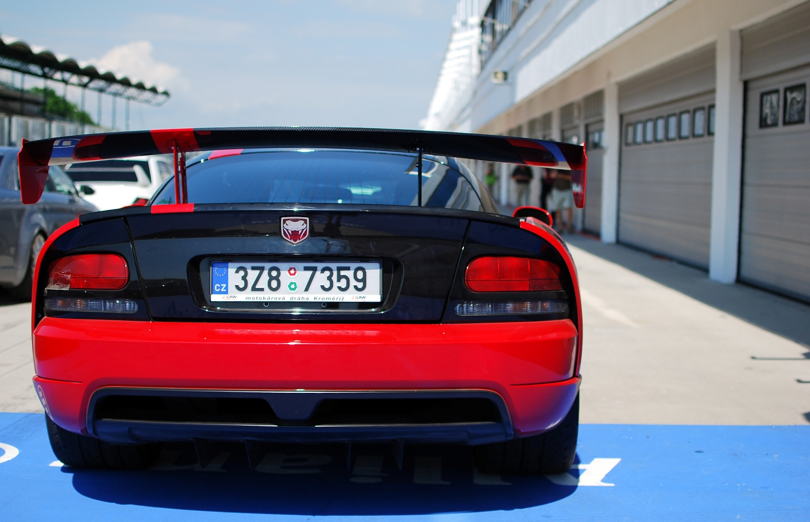
{"label": "white puffy cloud above the grandstand roof at left", "polygon": [[109,49],[100,59],[91,59],[96,67],[126,76],[132,83],[143,82],[159,88],[175,83],[180,70],[168,63],[158,62],[152,56],[150,42],[132,41]]}

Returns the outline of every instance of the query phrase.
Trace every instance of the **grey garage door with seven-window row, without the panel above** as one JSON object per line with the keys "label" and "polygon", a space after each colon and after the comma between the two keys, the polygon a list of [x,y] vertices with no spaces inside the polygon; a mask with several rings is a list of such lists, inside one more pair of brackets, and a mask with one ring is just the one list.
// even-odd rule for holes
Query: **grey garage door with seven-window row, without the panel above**
{"label": "grey garage door with seven-window row, without the panel above", "polygon": [[619,238],[709,266],[714,94],[626,114]]}

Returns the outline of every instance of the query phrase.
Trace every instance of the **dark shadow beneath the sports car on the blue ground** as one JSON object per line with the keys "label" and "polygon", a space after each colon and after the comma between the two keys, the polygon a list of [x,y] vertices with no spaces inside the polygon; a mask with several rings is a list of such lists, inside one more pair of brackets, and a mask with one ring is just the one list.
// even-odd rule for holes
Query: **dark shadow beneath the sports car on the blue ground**
{"label": "dark shadow beneath the sports car on the blue ground", "polygon": [[[407,446],[400,470],[388,445],[274,445],[250,469],[244,447],[221,444],[206,468],[191,444],[164,446],[145,471],[62,468],[79,494],[107,503],[279,515],[395,516],[513,510],[568,497],[543,476],[474,471],[470,447]],[[576,469],[576,466],[574,466]],[[576,474],[578,472],[573,471]],[[560,481],[557,479],[557,481]]]}

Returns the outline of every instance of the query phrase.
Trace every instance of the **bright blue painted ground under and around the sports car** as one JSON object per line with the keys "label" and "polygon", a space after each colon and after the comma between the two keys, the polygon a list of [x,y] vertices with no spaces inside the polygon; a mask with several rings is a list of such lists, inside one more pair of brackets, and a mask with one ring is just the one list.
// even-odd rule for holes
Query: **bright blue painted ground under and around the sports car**
{"label": "bright blue painted ground under and around the sports car", "polygon": [[[555,477],[475,473],[466,447],[237,445],[199,469],[193,447],[156,469],[54,463],[42,415],[0,413],[0,520],[810,520],[810,426],[583,425]],[[19,454],[14,458],[15,451]],[[195,469],[196,468],[196,469]]]}

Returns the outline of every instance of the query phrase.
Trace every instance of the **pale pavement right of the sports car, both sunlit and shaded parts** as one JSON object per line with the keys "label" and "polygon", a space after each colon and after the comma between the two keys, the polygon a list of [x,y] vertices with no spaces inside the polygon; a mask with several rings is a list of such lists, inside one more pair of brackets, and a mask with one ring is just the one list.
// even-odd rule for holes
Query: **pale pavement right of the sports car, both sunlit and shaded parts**
{"label": "pale pavement right of the sports car, both sunlit and shaded parts", "polygon": [[582,289],[582,422],[810,423],[810,306],[565,237]]}

